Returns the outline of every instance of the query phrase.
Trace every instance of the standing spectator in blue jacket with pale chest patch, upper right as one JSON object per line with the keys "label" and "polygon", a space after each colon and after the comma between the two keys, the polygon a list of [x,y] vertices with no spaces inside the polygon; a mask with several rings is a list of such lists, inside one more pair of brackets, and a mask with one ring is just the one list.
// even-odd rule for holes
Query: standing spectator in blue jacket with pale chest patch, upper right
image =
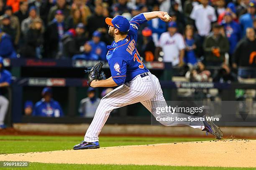
{"label": "standing spectator in blue jacket with pale chest patch, upper right", "polygon": [[228,12],[226,12],[224,15],[222,25],[225,29],[225,34],[229,41],[229,55],[232,56],[236,44],[240,40],[241,27],[232,19],[232,14]]}

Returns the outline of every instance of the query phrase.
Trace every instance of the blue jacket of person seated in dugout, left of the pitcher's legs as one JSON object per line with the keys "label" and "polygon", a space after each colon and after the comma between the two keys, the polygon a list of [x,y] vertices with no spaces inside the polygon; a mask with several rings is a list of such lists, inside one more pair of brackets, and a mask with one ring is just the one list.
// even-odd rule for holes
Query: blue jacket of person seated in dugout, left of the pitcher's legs
{"label": "blue jacket of person seated in dugout, left of the pitcher's legs", "polygon": [[61,117],[63,116],[63,112],[59,102],[51,99],[48,103],[42,99],[36,102],[32,115],[42,117]]}

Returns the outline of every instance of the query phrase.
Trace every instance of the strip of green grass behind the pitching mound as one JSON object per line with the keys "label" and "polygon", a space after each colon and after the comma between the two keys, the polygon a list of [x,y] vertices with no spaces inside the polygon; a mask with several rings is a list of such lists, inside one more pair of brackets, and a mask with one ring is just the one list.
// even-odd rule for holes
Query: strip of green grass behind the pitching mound
{"label": "strip of green grass behind the pitching mound", "polygon": [[[0,154],[69,150],[83,136],[0,136]],[[100,147],[213,140],[213,138],[100,137]]]}

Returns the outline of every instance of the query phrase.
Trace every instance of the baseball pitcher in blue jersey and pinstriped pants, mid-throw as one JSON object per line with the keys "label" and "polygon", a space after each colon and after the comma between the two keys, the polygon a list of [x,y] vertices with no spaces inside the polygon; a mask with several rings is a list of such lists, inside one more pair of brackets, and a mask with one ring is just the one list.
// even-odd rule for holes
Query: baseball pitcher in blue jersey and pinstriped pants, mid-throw
{"label": "baseball pitcher in blue jersey and pinstriped pants, mid-throw", "polygon": [[[84,140],[74,146],[74,150],[100,148],[98,135],[113,109],[141,102],[154,117],[156,107],[166,105],[158,78],[152,75],[141,61],[136,49],[137,31],[141,24],[153,18],[160,18],[165,22],[171,19],[168,13],[154,11],[136,15],[129,22],[125,17],[117,15],[115,18],[106,18],[109,25],[108,33],[114,38],[108,45],[107,60],[112,77],[105,79],[100,69],[103,65],[99,62],[90,68],[88,83],[91,87],[114,87],[115,90],[105,95],[97,107],[95,116],[87,129]],[[168,113],[162,114],[167,116]],[[184,117],[184,114],[169,114],[168,116]],[[222,132],[218,126],[210,121],[200,121],[196,125],[189,122],[160,121],[165,126],[189,125],[222,138]]]}

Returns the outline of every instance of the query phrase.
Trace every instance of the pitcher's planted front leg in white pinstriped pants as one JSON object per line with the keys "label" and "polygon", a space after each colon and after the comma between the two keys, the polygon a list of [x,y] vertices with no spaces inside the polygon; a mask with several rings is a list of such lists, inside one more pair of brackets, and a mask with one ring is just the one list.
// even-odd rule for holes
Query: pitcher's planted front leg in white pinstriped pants
{"label": "pitcher's planted front leg in white pinstriped pants", "polygon": [[99,141],[98,135],[113,109],[148,100],[154,96],[153,83],[150,80],[145,80],[145,82],[144,79],[146,77],[137,77],[130,83],[116,88],[100,100],[92,123],[84,136],[84,141]]}

